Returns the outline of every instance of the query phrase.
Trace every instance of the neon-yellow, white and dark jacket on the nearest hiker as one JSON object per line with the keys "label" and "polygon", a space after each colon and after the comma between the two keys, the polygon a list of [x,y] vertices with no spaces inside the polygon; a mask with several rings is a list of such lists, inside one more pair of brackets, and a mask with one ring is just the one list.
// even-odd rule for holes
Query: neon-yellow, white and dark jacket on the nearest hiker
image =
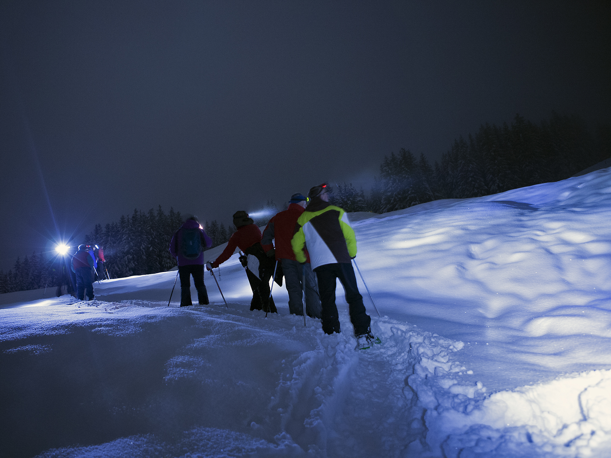
{"label": "neon-yellow, white and dark jacket on the nearest hiker", "polygon": [[304,245],[312,269],[323,264],[350,263],[356,256],[356,236],[342,208],[314,198],[295,225],[291,246],[295,257],[305,263]]}

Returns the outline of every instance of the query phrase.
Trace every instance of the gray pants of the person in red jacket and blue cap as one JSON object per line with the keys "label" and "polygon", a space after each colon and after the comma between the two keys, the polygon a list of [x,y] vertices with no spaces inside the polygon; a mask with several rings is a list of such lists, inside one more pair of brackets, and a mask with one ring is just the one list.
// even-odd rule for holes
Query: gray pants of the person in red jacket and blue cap
{"label": "gray pants of the person in red jacket and blue cap", "polygon": [[320,305],[318,286],[316,286],[316,275],[312,272],[310,263],[299,264],[298,261],[290,259],[282,260],[282,272],[288,291],[288,310],[296,315],[304,314],[303,294],[303,269],[305,268],[305,313],[314,318],[321,318],[323,309]]}

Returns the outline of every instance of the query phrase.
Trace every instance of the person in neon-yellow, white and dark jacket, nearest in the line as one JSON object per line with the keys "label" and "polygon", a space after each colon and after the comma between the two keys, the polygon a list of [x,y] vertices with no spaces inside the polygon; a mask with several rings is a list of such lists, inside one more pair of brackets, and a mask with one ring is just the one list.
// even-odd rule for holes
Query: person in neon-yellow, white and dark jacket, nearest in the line
{"label": "person in neon-yellow, white and dark jacket, nearest in the line", "polygon": [[359,343],[361,340],[373,343],[371,318],[365,311],[351,262],[356,257],[356,236],[345,211],[329,203],[328,191],[325,183],[310,189],[310,202],[295,225],[295,235],[291,240],[293,252],[300,263],[305,263],[304,245],[307,245],[312,270],[318,278],[323,331],[327,334],[340,332],[335,305],[336,278],[339,278],[346,292],[354,335]]}

